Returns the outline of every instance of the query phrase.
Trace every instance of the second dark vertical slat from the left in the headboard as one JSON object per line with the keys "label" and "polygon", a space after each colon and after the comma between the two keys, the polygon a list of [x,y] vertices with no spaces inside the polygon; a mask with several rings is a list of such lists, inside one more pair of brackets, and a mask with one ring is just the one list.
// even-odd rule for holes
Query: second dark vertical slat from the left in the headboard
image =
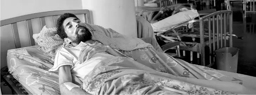
{"label": "second dark vertical slat from the left in the headboard", "polygon": [[31,19],[27,20],[27,28],[28,28],[28,36],[29,36],[30,46],[34,46],[35,40],[33,38],[33,28],[32,28]]}

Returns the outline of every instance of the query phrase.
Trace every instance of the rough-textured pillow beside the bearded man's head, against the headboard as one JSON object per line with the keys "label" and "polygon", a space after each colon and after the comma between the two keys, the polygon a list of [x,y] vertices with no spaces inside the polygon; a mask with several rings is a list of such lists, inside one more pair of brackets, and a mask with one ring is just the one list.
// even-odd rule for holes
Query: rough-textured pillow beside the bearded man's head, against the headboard
{"label": "rough-textured pillow beside the bearded man's head, against the headboard", "polygon": [[47,28],[46,26],[38,34],[33,34],[33,38],[40,46],[39,48],[48,53],[53,59],[55,58],[55,51],[59,49],[64,41],[57,34],[57,28]]}

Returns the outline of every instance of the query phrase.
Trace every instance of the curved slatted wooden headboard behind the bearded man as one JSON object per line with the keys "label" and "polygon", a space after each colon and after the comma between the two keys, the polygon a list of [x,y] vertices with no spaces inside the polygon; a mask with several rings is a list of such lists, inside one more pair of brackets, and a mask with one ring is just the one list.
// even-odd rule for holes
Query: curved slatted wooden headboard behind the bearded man
{"label": "curved slatted wooden headboard behind the bearded man", "polygon": [[91,24],[89,10],[60,10],[29,14],[1,20],[1,68],[7,66],[7,50],[37,45],[33,34],[43,26],[53,28],[64,13],[75,14],[81,21]]}

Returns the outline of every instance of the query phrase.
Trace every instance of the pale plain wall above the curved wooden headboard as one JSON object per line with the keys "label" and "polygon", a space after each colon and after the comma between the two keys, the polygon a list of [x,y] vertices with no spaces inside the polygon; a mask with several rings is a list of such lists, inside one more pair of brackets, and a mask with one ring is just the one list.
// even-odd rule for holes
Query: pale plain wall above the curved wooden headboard
{"label": "pale plain wall above the curved wooden headboard", "polygon": [[81,0],[0,0],[1,20],[54,10],[82,9]]}

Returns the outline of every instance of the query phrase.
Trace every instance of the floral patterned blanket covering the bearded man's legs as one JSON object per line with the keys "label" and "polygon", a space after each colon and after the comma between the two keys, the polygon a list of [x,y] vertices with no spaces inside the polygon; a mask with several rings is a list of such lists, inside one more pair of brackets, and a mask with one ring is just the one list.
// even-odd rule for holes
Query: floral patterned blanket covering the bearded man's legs
{"label": "floral patterned blanket covering the bearded man's legs", "polygon": [[150,48],[122,53],[135,60],[100,62],[84,77],[83,89],[96,95],[255,93],[255,77],[193,65]]}

